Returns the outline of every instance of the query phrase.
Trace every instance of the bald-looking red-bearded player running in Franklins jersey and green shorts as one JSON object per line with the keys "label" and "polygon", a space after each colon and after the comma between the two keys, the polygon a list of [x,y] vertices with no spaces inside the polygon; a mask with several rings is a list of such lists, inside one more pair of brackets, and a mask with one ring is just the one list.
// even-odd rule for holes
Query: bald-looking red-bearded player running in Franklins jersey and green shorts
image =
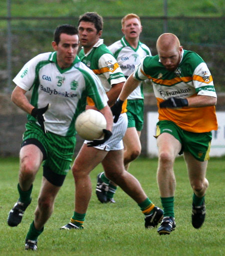
{"label": "bald-looking red-bearded player running in Franklins jersey and green shorts", "polygon": [[170,33],[159,36],[158,55],[145,57],[126,80],[113,106],[117,118],[121,103],[140,80],[151,79],[158,106],[156,130],[158,146],[157,181],[164,218],[158,233],[175,229],[173,164],[182,154],[193,190],[191,222],[199,228],[205,219],[205,178],[209,159],[211,131],[217,129],[216,93],[210,71],[202,58],[183,50],[178,38]]}

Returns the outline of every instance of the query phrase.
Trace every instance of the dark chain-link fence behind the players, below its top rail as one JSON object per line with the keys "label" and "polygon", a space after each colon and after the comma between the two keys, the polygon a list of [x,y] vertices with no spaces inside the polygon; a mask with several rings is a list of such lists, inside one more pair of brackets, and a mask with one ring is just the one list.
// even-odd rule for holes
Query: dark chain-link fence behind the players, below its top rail
{"label": "dark chain-link fence behind the players, below its top rail", "polygon": [[[102,38],[106,45],[110,45],[123,36],[121,18],[104,17],[103,19]],[[223,86],[225,82],[225,17],[140,17],[140,19],[143,26],[140,41],[151,49],[152,55],[156,54],[156,40],[165,32],[166,27],[167,32],[174,33],[179,38],[184,49],[195,51],[207,63],[216,91],[225,91]],[[17,74],[25,62],[39,53],[52,51],[51,41],[57,25],[76,26],[77,21],[78,17],[14,17],[10,20],[0,17],[0,93],[11,92],[14,87],[11,78]],[[7,59],[9,50],[11,56]],[[148,88],[146,92],[151,92],[151,89]]]}

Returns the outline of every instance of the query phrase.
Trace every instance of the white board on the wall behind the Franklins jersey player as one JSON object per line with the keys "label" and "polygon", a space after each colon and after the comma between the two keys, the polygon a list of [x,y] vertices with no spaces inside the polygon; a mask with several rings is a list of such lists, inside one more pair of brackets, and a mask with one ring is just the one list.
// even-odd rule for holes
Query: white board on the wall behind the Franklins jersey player
{"label": "white board on the wall behind the Franklins jersey player", "polygon": [[[212,131],[212,142],[209,156],[220,157],[225,155],[225,111],[217,111],[218,130]],[[158,121],[157,112],[147,112],[147,155],[149,157],[157,156],[156,139],[153,137],[156,132],[156,122]]]}

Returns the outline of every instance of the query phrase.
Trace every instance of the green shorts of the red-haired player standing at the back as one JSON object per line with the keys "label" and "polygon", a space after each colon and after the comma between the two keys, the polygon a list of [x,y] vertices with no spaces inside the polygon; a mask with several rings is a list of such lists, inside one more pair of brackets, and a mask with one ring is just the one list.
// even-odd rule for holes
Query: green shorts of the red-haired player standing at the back
{"label": "green shorts of the red-haired player standing at the back", "polygon": [[137,131],[141,131],[143,129],[143,99],[128,99],[126,109],[128,118],[127,128],[135,127]]}

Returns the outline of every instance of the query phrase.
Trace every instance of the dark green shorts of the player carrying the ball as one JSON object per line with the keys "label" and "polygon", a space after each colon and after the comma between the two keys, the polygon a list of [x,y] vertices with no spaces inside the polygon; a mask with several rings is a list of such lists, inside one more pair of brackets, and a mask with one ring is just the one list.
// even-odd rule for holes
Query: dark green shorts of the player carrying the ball
{"label": "dark green shorts of the player carrying the ball", "polygon": [[27,122],[25,128],[22,146],[24,141],[37,140],[37,147],[41,149],[44,156],[43,167],[58,175],[66,175],[74,154],[75,136],[63,137],[49,132],[44,134],[40,126],[32,121]]}

